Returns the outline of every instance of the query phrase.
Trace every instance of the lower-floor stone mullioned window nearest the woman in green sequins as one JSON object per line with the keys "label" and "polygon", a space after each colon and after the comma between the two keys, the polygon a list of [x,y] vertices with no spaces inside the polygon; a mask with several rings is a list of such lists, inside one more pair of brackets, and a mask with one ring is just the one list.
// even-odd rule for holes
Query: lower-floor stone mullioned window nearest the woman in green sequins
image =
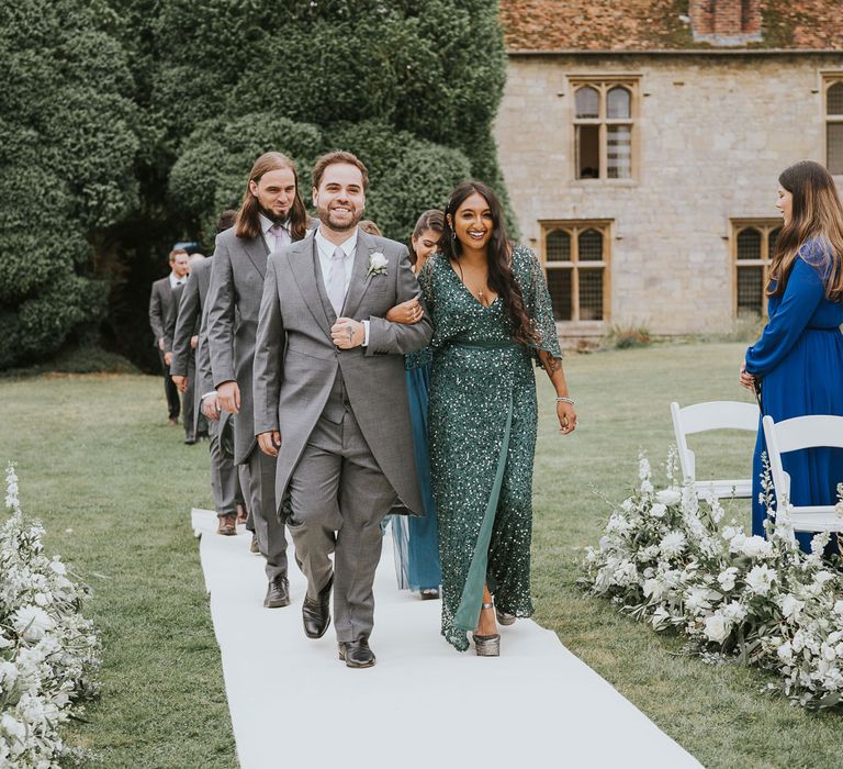
{"label": "lower-floor stone mullioned window nearest the woman in green sequins", "polygon": [[609,315],[611,222],[542,222],[542,264],[557,321],[606,321]]}

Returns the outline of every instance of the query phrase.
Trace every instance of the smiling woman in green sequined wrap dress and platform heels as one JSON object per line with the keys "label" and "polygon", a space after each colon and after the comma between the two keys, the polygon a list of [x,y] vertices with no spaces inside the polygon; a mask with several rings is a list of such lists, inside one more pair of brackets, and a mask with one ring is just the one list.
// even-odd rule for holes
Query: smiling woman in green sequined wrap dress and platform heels
{"label": "smiling woman in green sequined wrap dress and platform heels", "polygon": [[428,430],[442,564],[442,635],[473,634],[499,654],[497,611],[532,614],[530,539],[538,406],[533,361],[557,391],[563,434],[576,426],[539,260],[508,242],[494,192],[459,185],[441,250],[419,274],[434,322]]}

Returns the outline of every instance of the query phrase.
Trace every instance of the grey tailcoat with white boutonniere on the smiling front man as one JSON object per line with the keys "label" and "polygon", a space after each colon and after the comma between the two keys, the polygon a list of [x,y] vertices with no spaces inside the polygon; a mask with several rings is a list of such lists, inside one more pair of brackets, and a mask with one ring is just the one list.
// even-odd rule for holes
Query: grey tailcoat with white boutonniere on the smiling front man
{"label": "grey tailcoat with white boutonniere on the smiling front man", "polygon": [[[405,353],[430,342],[425,313],[415,325],[385,320],[386,312],[419,296],[405,246],[358,230],[357,250],[342,315],[368,320],[369,345],[337,349],[330,338],[336,316],[326,299],[315,238],[269,257],[255,350],[255,431],[281,433],[276,500],[323,413],[339,371],[355,417],[401,501],[420,513],[413,434],[404,378]],[[368,275],[369,259],[382,253],[385,275]]]}

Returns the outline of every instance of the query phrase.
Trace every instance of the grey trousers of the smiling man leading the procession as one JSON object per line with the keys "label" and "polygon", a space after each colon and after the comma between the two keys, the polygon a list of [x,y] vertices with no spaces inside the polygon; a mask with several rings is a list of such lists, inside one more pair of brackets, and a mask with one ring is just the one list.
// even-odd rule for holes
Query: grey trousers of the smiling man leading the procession
{"label": "grey trousers of the smiling man leading the procession", "polygon": [[368,638],[374,626],[374,571],[381,519],[395,501],[350,411],[340,424],[319,419],[290,479],[288,528],[316,600],[331,575],[337,640]]}

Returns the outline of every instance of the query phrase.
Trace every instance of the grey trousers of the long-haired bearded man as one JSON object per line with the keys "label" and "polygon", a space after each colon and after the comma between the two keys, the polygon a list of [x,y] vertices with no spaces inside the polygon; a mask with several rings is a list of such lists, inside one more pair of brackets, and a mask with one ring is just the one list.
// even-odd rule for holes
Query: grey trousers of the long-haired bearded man
{"label": "grey trousers of the long-haired bearded man", "polygon": [[276,513],[276,458],[255,447],[249,465],[249,514],[260,555],[267,559],[267,579],[286,577],[284,524]]}

